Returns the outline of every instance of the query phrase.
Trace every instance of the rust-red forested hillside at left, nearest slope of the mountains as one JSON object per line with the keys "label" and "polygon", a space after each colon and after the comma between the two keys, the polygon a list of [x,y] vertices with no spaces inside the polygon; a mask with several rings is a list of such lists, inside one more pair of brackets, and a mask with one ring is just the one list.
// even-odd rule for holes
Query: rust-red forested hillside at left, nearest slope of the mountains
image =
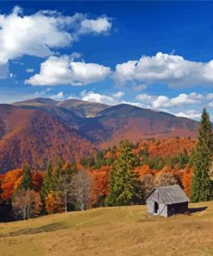
{"label": "rust-red forested hillside at left, nearest slope of the mountains", "polygon": [[91,143],[72,126],[47,112],[0,106],[0,170],[12,170],[28,163],[43,170],[47,160],[62,155],[66,160],[86,156]]}

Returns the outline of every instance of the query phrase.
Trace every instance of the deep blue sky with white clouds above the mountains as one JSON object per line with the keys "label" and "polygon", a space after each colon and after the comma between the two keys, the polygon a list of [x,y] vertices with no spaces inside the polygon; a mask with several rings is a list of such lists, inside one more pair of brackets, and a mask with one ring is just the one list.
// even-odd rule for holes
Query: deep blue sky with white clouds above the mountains
{"label": "deep blue sky with white clouds above the mountains", "polygon": [[1,2],[0,103],[83,99],[213,119],[213,2]]}

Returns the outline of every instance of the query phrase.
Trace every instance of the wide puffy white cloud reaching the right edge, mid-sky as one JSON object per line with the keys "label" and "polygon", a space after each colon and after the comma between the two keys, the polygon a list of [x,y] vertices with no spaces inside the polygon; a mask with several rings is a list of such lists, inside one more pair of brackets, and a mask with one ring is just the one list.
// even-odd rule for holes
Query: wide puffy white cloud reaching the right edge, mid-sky
{"label": "wide puffy white cloud reaching the right edge, mid-sky", "polygon": [[179,55],[157,53],[117,64],[113,78],[117,83],[163,83],[172,87],[213,85],[213,61],[187,61]]}

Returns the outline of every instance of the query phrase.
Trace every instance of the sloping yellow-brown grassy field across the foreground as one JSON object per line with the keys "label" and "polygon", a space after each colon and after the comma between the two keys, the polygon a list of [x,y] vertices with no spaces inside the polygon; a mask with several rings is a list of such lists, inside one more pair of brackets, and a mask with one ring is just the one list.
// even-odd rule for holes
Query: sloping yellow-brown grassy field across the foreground
{"label": "sloping yellow-brown grassy field across the foreground", "polygon": [[190,207],[207,208],[170,218],[145,206],[98,208],[0,223],[0,255],[213,255],[213,202]]}

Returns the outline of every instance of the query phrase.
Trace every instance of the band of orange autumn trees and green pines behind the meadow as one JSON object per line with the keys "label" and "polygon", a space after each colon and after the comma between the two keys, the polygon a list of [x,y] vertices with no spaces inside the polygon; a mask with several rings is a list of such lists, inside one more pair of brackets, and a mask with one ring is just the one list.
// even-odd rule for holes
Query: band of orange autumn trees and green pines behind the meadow
{"label": "band of orange autumn trees and green pines behind the meadow", "polygon": [[[125,139],[78,161],[59,156],[54,162],[47,161],[46,170],[31,170],[26,163],[0,176],[1,221],[144,204],[153,187],[173,184],[179,184],[192,202],[209,201],[213,198],[212,142],[210,119],[204,109],[198,139],[149,138],[136,144]],[[203,148],[209,155],[202,156]],[[206,166],[199,170],[204,159]],[[201,193],[197,183],[203,184],[204,178],[207,185]]]}

